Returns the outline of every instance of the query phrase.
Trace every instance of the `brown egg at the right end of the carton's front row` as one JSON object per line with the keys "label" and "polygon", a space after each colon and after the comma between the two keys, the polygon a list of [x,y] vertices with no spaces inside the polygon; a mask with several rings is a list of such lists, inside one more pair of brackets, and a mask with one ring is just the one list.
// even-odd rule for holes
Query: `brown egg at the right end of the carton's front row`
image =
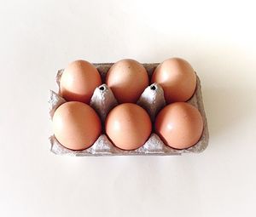
{"label": "brown egg at the right end of the carton's front row", "polygon": [[176,102],[160,111],[154,128],[166,145],[184,149],[194,146],[200,140],[203,120],[195,106],[186,102]]}

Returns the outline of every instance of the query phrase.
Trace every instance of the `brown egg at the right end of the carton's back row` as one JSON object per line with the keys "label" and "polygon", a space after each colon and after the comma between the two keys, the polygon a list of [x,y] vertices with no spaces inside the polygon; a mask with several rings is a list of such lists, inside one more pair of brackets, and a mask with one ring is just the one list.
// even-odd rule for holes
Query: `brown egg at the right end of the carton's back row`
{"label": "brown egg at the right end of the carton's back row", "polygon": [[171,58],[156,67],[151,83],[161,85],[167,103],[184,102],[195,92],[195,71],[186,60]]}

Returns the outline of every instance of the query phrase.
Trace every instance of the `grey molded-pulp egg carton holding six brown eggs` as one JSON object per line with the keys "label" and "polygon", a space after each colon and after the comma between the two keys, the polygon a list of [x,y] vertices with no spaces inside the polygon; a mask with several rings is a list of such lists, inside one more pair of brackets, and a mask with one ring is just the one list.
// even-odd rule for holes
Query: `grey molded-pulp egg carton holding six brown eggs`
{"label": "grey molded-pulp egg carton holding six brown eggs", "polygon": [[[113,63],[98,63],[94,64],[97,70],[101,74],[102,83],[105,83],[106,75],[109,68]],[[143,64],[148,72],[148,77],[152,76],[154,69],[158,66],[158,63],[154,64]],[[59,70],[56,75],[56,83],[58,85],[58,94],[54,91],[49,91],[49,117],[52,119],[55,110],[65,103],[66,100],[61,97],[60,94],[60,79],[63,70]],[[49,137],[50,151],[58,155],[69,155],[69,156],[127,156],[127,155],[156,155],[156,156],[169,156],[169,155],[181,155],[183,153],[199,153],[207,148],[209,133],[207,128],[207,117],[204,111],[203,100],[201,95],[201,83],[199,77],[196,75],[196,89],[193,96],[187,101],[189,104],[195,106],[200,112],[203,118],[203,132],[201,134],[201,139],[195,144],[195,146],[189,147],[183,150],[177,150],[170,146],[166,146],[157,134],[152,133],[146,143],[133,151],[124,151],[114,146],[113,143],[108,140],[106,134],[102,134],[96,140],[96,142],[89,148],[82,151],[73,151],[62,146],[58,140],[56,140],[55,135]],[[114,98],[111,89],[108,88],[106,84],[102,84],[97,87],[94,94],[90,100],[90,106],[95,109],[99,117],[102,120],[102,124],[105,122],[105,118],[108,112],[117,106],[118,102]],[[143,91],[137,101],[137,105],[142,106],[148,115],[150,116],[152,123],[154,123],[154,118],[158,111],[166,106],[166,100],[164,97],[164,91],[160,87],[160,84],[153,83],[148,88]],[[90,123],[88,123],[90,124]]]}

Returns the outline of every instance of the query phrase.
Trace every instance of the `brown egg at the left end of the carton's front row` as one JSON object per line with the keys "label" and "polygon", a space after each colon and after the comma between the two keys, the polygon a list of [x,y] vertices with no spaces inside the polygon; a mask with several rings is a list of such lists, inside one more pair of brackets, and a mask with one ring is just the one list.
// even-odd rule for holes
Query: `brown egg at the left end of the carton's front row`
{"label": "brown egg at the left end of the carton's front row", "polygon": [[67,102],[57,108],[53,117],[55,138],[72,150],[83,150],[97,140],[102,123],[90,106],[82,102]]}

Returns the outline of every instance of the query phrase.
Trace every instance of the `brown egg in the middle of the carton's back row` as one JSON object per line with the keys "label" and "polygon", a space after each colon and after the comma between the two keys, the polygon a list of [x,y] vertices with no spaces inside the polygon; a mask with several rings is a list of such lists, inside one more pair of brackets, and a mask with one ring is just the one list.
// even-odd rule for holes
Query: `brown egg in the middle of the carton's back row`
{"label": "brown egg in the middle of the carton's back row", "polygon": [[119,60],[109,69],[106,83],[119,103],[135,103],[148,87],[148,73],[136,60]]}

